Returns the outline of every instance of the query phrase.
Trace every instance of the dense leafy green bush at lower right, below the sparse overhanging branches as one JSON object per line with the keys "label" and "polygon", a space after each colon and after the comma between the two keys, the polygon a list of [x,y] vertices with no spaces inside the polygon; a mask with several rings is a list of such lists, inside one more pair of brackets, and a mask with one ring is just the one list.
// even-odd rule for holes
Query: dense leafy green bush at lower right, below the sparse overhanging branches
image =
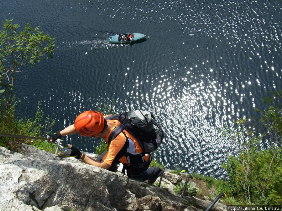
{"label": "dense leafy green bush at lower right, below the sparse overhanging branches", "polygon": [[239,159],[230,156],[224,166],[230,177],[229,192],[240,201],[255,205],[282,203],[281,153],[272,149],[243,150]]}

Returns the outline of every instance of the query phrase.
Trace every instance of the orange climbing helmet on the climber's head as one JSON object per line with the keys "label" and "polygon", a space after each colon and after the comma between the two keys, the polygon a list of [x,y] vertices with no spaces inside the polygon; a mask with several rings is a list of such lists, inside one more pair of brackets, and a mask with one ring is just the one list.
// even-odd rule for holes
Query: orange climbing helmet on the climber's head
{"label": "orange climbing helmet on the climber's head", "polygon": [[101,133],[105,120],[103,114],[97,111],[85,111],[79,114],[75,120],[75,129],[81,136],[92,136]]}

